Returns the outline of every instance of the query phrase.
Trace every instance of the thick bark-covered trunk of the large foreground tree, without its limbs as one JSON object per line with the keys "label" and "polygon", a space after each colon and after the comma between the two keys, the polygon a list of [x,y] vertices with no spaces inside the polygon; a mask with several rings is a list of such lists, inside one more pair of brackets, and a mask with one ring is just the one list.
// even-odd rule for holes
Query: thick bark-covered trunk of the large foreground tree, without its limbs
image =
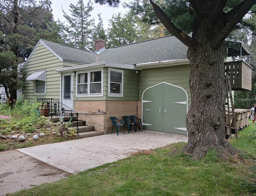
{"label": "thick bark-covered trunk of the large foreground tree, without its limbs", "polygon": [[214,148],[221,158],[234,157],[238,152],[225,139],[224,42],[217,49],[213,49],[209,42],[218,36],[221,24],[218,28],[215,26],[215,31],[206,33],[204,30],[211,29],[210,23],[203,24],[201,21],[200,28],[197,28],[200,31],[195,30],[192,35],[200,37],[200,44],[189,48],[187,54],[191,67],[191,106],[186,117],[188,143],[183,150],[193,154],[195,159],[203,158],[209,148]]}

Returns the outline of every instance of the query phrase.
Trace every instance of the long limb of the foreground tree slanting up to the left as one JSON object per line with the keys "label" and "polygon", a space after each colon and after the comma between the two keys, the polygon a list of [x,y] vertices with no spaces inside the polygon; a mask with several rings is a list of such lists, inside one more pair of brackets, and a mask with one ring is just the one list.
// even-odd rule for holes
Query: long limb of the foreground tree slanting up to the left
{"label": "long limb of the foreground tree slanting up to the left", "polygon": [[193,47],[193,48],[196,47],[196,40],[188,36],[182,30],[178,29],[172,23],[172,21],[168,18],[168,16],[166,16],[164,11],[159,6],[157,6],[152,0],[150,0],[150,4],[154,8],[154,12],[156,13],[156,16],[164,24],[164,26],[170,33],[172,33],[176,38],[178,38],[186,46]]}

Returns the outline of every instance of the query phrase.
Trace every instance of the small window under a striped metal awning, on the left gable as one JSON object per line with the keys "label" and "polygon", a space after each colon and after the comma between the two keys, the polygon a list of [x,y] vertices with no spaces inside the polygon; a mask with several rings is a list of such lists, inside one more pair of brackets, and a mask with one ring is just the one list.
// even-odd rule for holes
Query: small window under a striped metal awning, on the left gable
{"label": "small window under a striped metal awning, on the left gable", "polygon": [[45,94],[46,71],[37,71],[26,78],[26,81],[34,81],[35,94]]}

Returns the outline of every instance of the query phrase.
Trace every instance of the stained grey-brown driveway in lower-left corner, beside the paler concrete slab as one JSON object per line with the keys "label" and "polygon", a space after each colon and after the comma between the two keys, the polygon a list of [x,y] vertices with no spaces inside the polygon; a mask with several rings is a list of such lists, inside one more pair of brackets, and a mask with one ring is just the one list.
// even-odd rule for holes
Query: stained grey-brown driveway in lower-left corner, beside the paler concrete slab
{"label": "stained grey-brown driveway in lower-left corner, beside the paler concrete slab", "polygon": [[17,150],[0,152],[0,195],[66,178],[70,173]]}

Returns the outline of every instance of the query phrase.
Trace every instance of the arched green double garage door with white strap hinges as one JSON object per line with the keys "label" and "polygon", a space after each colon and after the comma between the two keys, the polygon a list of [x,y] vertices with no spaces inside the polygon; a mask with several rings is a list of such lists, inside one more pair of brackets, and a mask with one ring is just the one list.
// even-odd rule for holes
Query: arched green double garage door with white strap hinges
{"label": "arched green double garage door with white strap hinges", "polygon": [[187,135],[188,94],[180,86],[161,82],[142,93],[143,129]]}

